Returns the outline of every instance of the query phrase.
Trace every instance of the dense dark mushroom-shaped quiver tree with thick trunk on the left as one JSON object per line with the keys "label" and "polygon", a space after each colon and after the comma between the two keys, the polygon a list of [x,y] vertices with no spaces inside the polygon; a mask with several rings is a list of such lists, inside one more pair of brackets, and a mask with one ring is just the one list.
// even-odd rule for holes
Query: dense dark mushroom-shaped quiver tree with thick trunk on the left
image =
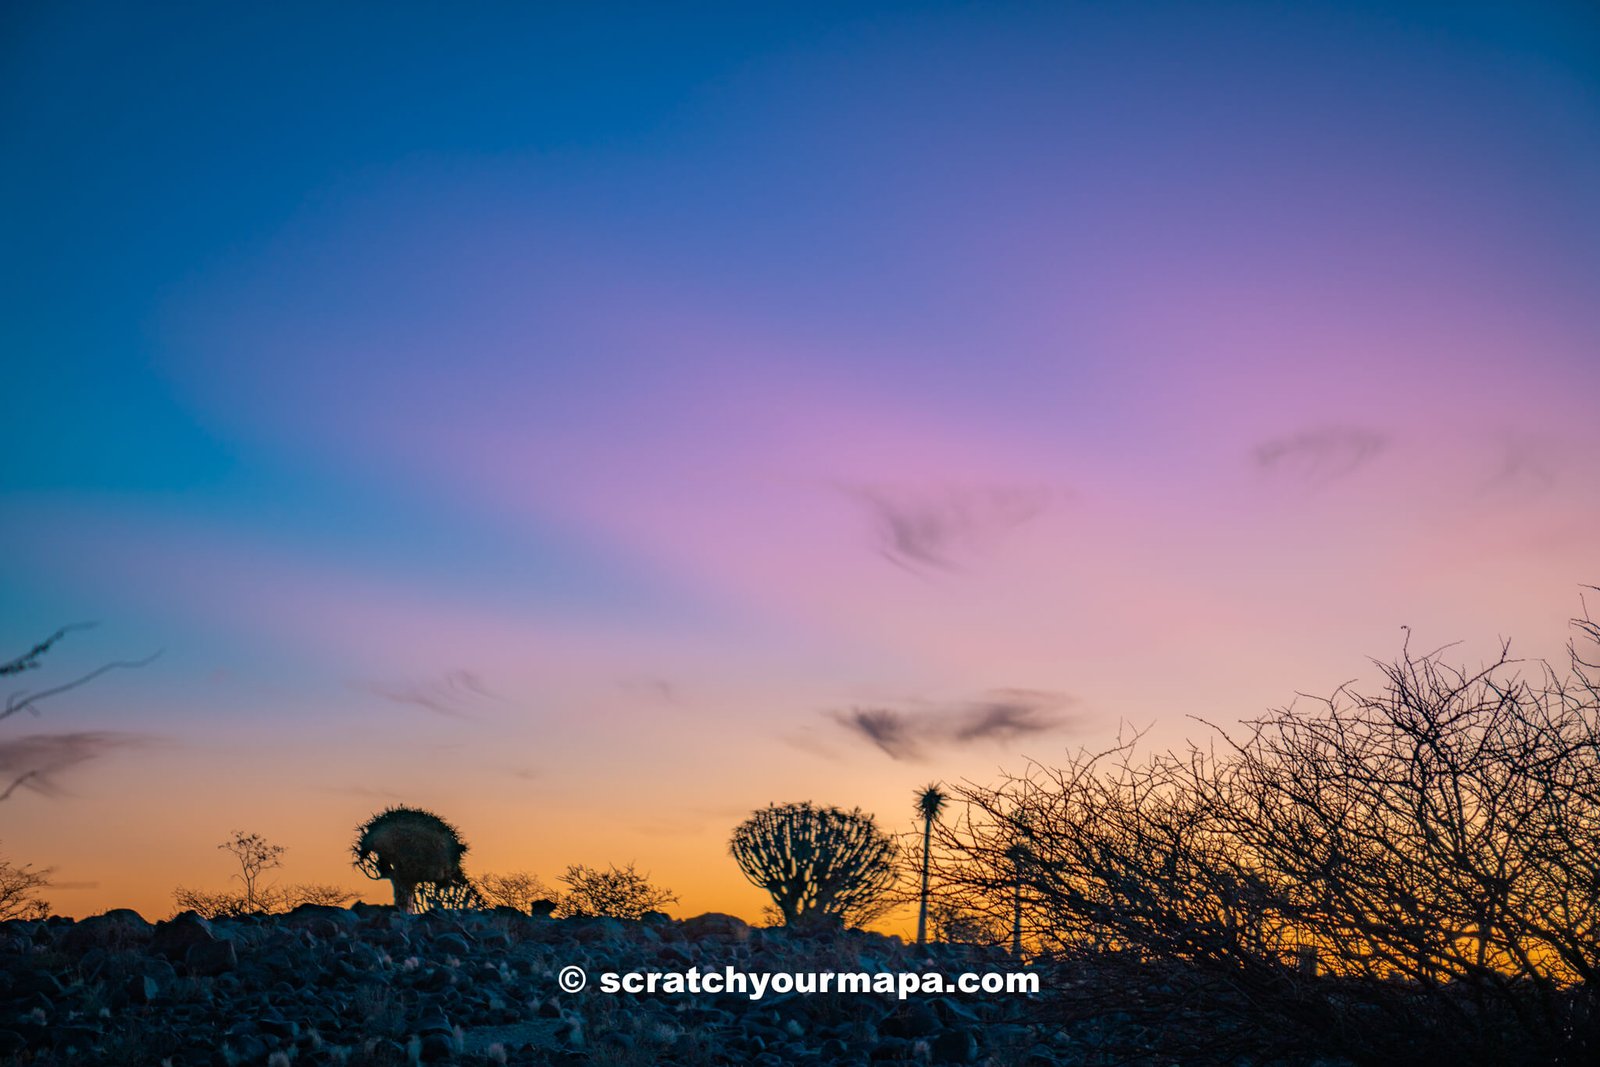
{"label": "dense dark mushroom-shaped quiver tree with thick trunk on the left", "polygon": [[456,827],[421,808],[386,808],[355,827],[355,869],[394,885],[395,907],[482,907],[461,869],[467,843]]}

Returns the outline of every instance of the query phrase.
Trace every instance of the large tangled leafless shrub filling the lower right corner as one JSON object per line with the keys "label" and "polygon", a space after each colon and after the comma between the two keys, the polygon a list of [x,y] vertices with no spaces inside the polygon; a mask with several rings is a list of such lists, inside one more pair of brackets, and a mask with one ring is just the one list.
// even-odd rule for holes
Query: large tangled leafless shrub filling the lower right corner
{"label": "large tangled leafless shrub filling the lower right corner", "polygon": [[1122,1054],[1587,1062],[1595,686],[1506,649],[1381,670],[1214,749],[1128,739],[955,789],[934,899],[1093,976],[1056,1006],[1115,1021]]}

